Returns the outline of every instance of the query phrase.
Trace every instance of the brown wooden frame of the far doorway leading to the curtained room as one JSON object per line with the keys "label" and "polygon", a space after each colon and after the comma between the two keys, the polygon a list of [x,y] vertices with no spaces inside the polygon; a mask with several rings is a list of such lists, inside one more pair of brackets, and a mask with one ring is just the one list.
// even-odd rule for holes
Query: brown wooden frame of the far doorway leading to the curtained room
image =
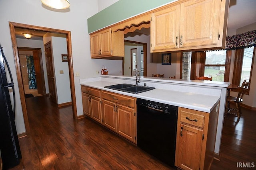
{"label": "brown wooden frame of the far doorway leading to the curtained room", "polygon": [[[42,49],[40,48],[31,48],[31,47],[18,47],[18,51],[37,51],[39,56],[39,64],[40,64],[40,77],[42,79],[43,84],[43,95],[46,95],[45,81],[44,81],[44,68],[43,68],[43,59],[42,59]],[[23,81],[22,81],[23,84]],[[23,86],[24,88],[24,86]]]}

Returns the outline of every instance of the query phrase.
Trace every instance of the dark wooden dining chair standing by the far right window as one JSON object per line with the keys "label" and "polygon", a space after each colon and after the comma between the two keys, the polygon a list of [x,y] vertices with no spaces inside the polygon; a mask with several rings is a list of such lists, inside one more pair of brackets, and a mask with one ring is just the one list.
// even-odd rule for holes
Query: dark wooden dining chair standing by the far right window
{"label": "dark wooden dining chair standing by the far right window", "polygon": [[[240,103],[243,102],[244,92],[248,88],[249,84],[250,84],[250,82],[246,82],[246,80],[244,80],[244,82],[242,83],[242,86],[239,87],[237,97],[227,96],[227,99],[226,99],[226,102],[227,102],[227,108],[226,109],[228,110],[227,113],[237,115],[238,120],[240,119],[240,117],[242,115],[242,112],[241,112],[241,109],[240,109]],[[233,103],[236,104],[235,109],[230,108],[230,102],[233,102]],[[236,113],[231,113],[230,112],[231,110],[236,110]]]}

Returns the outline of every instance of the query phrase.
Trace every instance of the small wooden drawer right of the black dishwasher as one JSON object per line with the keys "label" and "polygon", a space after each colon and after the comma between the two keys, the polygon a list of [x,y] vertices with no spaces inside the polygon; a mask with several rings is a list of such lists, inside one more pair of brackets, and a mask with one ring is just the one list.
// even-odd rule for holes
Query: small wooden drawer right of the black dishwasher
{"label": "small wooden drawer right of the black dishwasher", "polygon": [[180,109],[180,122],[204,128],[204,114],[199,114],[199,111],[192,112],[190,109],[179,108]]}

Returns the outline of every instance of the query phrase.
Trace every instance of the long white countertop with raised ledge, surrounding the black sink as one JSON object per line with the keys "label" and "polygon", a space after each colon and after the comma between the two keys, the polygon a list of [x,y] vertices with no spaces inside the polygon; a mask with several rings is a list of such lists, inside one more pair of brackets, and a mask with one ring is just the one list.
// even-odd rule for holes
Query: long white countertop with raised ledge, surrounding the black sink
{"label": "long white countertop with raised ledge, surrounding the black sink", "polygon": [[[84,86],[89,86],[92,88],[106,90],[109,92],[115,92],[118,94],[124,94],[127,96],[142,98],[142,99],[151,100],[154,102],[160,102],[160,103],[170,104],[178,107],[185,107],[188,109],[204,111],[207,113],[210,113],[212,109],[218,104],[220,100],[220,92],[218,91],[218,89],[212,88],[209,90],[209,87],[204,88],[204,86],[227,87],[229,84],[225,82],[224,83],[223,82],[222,83],[219,83],[219,82],[206,83],[204,81],[198,81],[198,80],[170,81],[170,79],[164,80],[159,78],[152,79],[152,78],[142,77],[141,79],[142,81],[147,82],[147,84],[149,84],[148,86],[153,85],[151,87],[155,87],[156,89],[150,90],[148,92],[132,94],[132,93],[104,88],[104,86],[110,86],[110,85],[121,84],[121,83],[130,82],[130,84],[135,84],[135,81],[133,79],[134,79],[134,76],[129,77],[129,76],[108,75],[108,76],[102,76],[97,78],[81,79],[80,84]],[[152,80],[154,81],[154,83],[150,82]],[[168,82],[170,84],[168,84]],[[179,85],[177,86],[177,84]]]}

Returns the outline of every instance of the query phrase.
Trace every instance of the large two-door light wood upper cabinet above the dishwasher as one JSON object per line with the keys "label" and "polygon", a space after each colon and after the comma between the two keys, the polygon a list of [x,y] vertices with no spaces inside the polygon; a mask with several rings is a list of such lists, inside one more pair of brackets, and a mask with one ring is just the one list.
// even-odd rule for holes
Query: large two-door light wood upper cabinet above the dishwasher
{"label": "large two-door light wood upper cabinet above the dishwasher", "polygon": [[187,0],[152,13],[153,52],[221,49],[226,45],[229,0]]}

